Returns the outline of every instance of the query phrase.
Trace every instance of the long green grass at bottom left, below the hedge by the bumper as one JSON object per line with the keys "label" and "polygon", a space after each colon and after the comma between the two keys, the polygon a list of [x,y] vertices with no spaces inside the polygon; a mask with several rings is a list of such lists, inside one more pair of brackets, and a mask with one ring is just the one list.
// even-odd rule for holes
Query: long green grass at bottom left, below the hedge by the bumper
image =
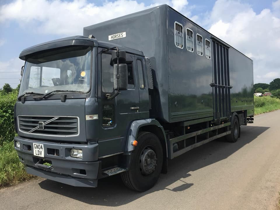
{"label": "long green grass at bottom left, below the hedge by the bumper", "polygon": [[14,143],[4,142],[0,146],[0,188],[29,180],[35,176],[27,174],[23,164],[18,160]]}

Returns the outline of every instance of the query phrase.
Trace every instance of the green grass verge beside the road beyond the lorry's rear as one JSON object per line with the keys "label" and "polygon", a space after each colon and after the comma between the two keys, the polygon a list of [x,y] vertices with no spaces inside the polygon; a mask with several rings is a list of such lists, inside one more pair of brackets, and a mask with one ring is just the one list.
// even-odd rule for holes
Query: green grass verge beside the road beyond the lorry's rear
{"label": "green grass verge beside the road beyond the lorry's rear", "polygon": [[254,97],[255,115],[280,109],[280,99],[270,96]]}

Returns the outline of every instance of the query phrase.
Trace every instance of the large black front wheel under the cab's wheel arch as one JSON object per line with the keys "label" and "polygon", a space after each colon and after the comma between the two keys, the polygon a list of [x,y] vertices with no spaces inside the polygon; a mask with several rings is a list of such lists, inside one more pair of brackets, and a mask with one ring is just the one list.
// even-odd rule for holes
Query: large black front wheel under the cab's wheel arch
{"label": "large black front wheel under the cab's wheel arch", "polygon": [[153,133],[142,132],[137,141],[130,168],[120,175],[126,187],[144,192],[152,188],[160,176],[163,152],[160,140]]}

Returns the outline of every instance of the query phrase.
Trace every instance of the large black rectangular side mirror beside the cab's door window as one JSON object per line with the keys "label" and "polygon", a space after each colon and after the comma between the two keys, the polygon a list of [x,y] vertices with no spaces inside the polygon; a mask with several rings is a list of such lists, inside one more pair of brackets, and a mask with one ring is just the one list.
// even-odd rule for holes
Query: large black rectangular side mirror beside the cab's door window
{"label": "large black rectangular side mirror beside the cab's door window", "polygon": [[[114,64],[114,89],[118,90],[118,80],[117,80],[117,66]],[[127,90],[128,76],[127,76],[127,64],[119,64],[119,90]]]}

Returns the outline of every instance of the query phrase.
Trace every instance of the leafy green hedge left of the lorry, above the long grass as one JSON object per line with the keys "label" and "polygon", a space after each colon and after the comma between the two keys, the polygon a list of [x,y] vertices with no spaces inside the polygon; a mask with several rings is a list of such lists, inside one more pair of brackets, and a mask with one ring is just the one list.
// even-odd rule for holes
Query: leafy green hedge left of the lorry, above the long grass
{"label": "leafy green hedge left of the lorry, above the long grass", "polygon": [[0,95],[0,146],[4,141],[13,141],[14,105],[17,100],[17,91]]}

